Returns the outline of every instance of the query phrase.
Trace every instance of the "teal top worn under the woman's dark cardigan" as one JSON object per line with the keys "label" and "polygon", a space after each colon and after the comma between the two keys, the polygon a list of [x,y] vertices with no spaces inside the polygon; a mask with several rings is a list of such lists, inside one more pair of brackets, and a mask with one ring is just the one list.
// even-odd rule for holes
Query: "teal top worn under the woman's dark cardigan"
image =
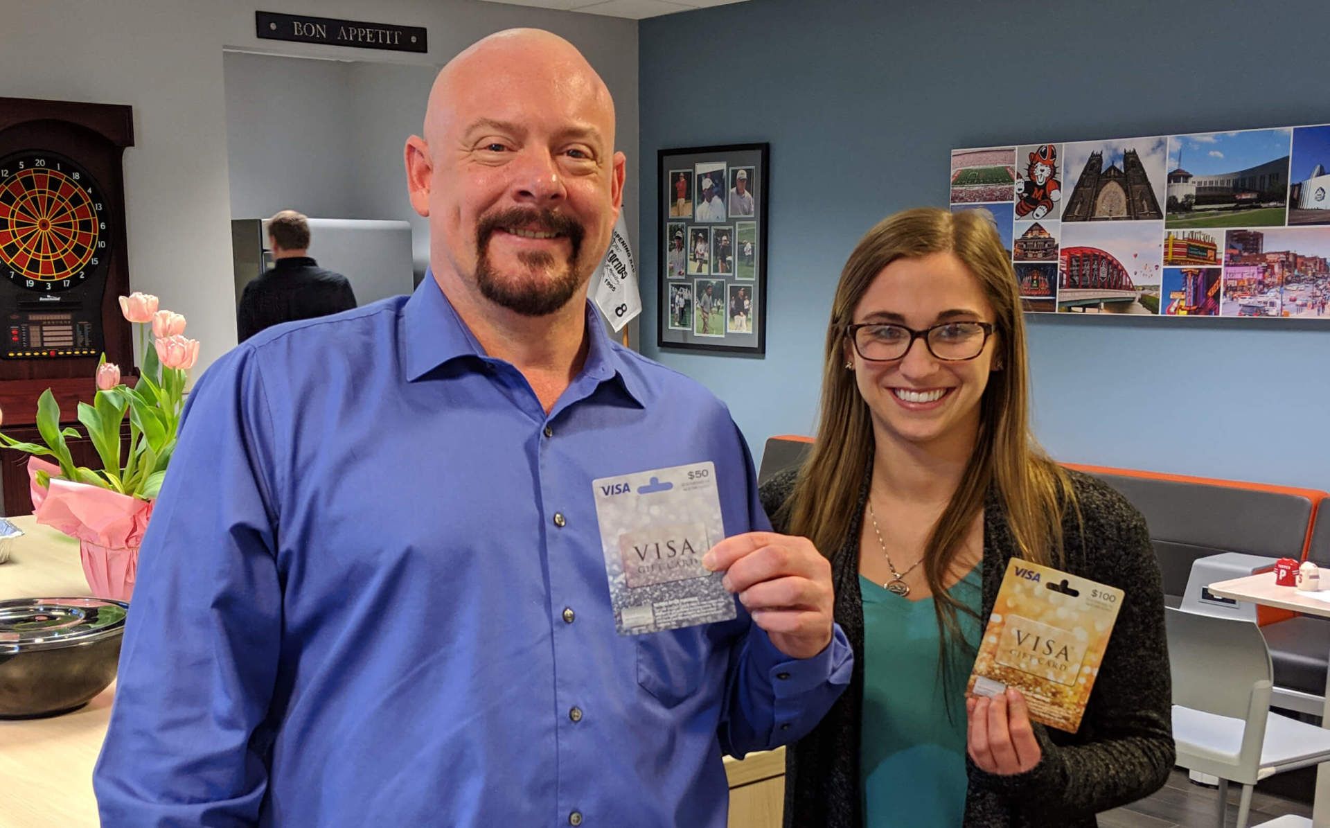
{"label": "teal top worn under the woman's dark cardigan", "polygon": [[[951,648],[955,683],[943,691],[938,672],[938,616],[932,596],[908,600],[859,576],[863,595],[863,722],[859,789],[864,828],[960,825],[966,812],[966,682],[974,650]],[[975,566],[948,590],[980,612],[983,584]],[[958,614],[962,632],[979,644],[979,620]],[[946,702],[951,702],[948,718]]]}

